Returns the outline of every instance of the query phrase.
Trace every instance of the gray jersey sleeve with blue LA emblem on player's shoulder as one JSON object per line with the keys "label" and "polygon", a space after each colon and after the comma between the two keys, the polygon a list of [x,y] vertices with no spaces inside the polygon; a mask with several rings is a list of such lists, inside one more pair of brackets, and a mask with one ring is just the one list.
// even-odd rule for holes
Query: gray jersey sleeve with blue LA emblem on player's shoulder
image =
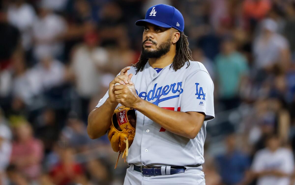
{"label": "gray jersey sleeve with blue LA emblem on player's shoulder", "polygon": [[181,111],[203,112],[205,121],[214,119],[213,91],[213,81],[206,71],[192,72],[186,77],[183,86]]}

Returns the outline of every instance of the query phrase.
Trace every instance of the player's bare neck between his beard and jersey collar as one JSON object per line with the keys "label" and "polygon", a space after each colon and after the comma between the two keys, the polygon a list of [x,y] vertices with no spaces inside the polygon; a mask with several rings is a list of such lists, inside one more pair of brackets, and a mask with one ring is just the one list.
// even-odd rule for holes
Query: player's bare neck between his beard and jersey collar
{"label": "player's bare neck between his beard and jersey collar", "polygon": [[149,58],[149,64],[153,68],[164,68],[168,66],[169,64],[172,64],[174,56],[175,56],[175,50],[172,48],[168,53],[165,55],[161,56],[160,58]]}

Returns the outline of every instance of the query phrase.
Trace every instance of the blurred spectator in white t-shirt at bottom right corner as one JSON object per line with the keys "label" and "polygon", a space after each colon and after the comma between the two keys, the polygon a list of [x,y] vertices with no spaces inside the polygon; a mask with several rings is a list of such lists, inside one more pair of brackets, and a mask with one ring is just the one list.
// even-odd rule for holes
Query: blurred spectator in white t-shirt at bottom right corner
{"label": "blurred spectator in white t-shirt at bottom right corner", "polygon": [[258,151],[251,167],[257,185],[289,185],[294,172],[294,156],[288,148],[282,148],[276,135],[266,139],[266,148]]}

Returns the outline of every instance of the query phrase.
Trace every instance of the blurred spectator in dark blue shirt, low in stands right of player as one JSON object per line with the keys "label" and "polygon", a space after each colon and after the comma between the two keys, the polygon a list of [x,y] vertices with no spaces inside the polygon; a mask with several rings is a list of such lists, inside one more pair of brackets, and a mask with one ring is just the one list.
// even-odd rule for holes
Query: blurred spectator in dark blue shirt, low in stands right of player
{"label": "blurred spectator in dark blue shirt, low in stands right of player", "polygon": [[236,141],[234,134],[228,135],[225,139],[226,152],[216,157],[222,183],[227,185],[241,184],[250,167],[250,158],[237,149]]}

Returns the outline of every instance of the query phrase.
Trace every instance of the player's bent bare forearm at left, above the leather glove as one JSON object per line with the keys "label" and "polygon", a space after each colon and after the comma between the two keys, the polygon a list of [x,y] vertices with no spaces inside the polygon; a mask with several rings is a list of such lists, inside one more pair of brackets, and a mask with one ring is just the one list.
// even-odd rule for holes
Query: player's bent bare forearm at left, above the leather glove
{"label": "player's bent bare forearm at left, above the leather glove", "polygon": [[91,111],[87,125],[87,133],[91,139],[99,138],[106,133],[117,105],[117,102],[111,103],[109,99],[106,99],[104,104]]}

